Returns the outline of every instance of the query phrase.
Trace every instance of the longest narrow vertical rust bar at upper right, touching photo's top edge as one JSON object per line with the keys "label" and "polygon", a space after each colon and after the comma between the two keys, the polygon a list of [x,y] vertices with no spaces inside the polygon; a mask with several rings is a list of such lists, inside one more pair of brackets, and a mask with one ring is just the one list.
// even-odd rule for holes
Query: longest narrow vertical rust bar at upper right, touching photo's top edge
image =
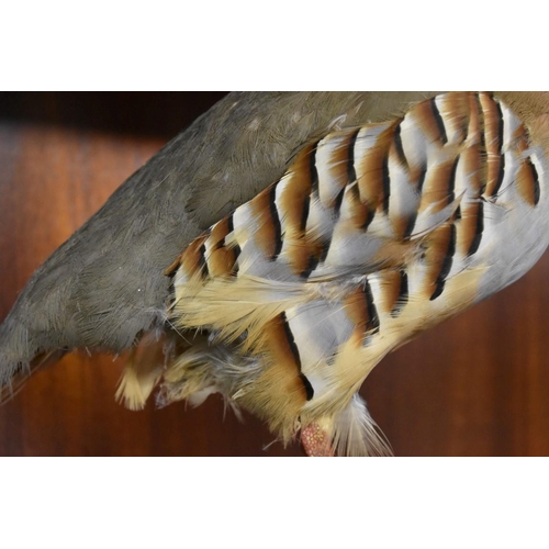
{"label": "longest narrow vertical rust bar at upper right, touching photo's top edge", "polygon": [[504,159],[503,147],[503,113],[490,94],[481,93],[480,103],[483,112],[486,147],[486,190],[488,198],[494,198],[503,181]]}

